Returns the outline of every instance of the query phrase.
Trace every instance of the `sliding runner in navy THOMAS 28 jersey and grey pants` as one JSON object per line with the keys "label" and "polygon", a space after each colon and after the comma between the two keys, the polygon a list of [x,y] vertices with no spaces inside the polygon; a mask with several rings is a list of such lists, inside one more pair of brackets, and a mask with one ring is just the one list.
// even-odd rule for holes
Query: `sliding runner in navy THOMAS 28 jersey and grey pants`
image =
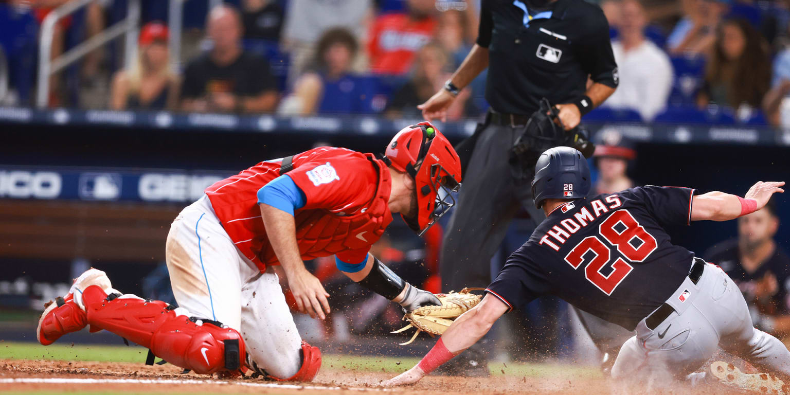
{"label": "sliding runner in navy THOMAS 28 jersey and grey pants", "polygon": [[[784,182],[757,182],[744,198],[658,186],[587,197],[589,168],[576,149],[548,149],[535,168],[532,194],[547,218],[510,255],[480,304],[458,317],[419,364],[385,385],[419,381],[475,344],[513,306],[546,294],[636,329],[615,360],[613,378],[659,370],[698,382],[711,376],[692,372],[717,347],[790,377],[790,352],[754,328],[735,283],[717,266],[673,244],[665,230],[753,213],[771,195],[784,192]],[[712,366],[717,378],[726,373],[746,380],[732,366]]]}

